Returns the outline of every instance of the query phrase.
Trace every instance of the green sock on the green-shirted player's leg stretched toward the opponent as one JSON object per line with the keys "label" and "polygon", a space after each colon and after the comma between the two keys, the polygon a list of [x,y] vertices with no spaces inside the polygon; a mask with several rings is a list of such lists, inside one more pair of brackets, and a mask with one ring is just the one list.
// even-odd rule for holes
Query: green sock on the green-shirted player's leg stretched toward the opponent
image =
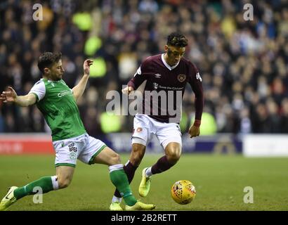
{"label": "green sock on the green-shirted player's leg stretched toward the opponent", "polygon": [[132,206],[137,203],[136,198],[132,194],[129,181],[123,167],[122,169],[116,169],[110,172],[110,179],[120,192],[121,196],[124,198],[126,205]]}

